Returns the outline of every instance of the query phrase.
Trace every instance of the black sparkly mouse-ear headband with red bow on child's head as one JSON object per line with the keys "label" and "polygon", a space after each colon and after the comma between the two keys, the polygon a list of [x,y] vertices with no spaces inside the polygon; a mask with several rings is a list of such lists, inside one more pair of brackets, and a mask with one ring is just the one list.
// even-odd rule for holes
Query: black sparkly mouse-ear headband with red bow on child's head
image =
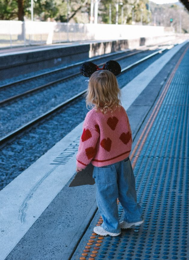
{"label": "black sparkly mouse-ear headband with red bow on child's head", "polygon": [[121,73],[121,67],[119,63],[115,60],[109,60],[102,68],[99,68],[96,64],[92,62],[84,62],[80,67],[80,73],[84,77],[90,77],[95,71],[97,70],[109,70],[111,71],[115,76]]}

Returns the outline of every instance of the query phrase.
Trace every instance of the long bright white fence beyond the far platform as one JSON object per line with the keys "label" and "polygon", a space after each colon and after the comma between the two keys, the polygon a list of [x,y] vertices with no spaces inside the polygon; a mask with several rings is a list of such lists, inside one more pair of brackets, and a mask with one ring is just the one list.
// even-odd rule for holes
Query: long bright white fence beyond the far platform
{"label": "long bright white fence beyond the far platform", "polygon": [[0,21],[0,48],[83,40],[118,40],[172,34],[162,26]]}

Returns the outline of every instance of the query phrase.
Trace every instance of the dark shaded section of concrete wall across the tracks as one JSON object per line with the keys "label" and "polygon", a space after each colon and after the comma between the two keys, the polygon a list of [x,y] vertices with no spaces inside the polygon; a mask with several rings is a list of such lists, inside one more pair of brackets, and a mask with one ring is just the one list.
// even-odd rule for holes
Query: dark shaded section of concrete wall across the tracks
{"label": "dark shaded section of concrete wall across the tracks", "polygon": [[0,80],[88,59],[89,44],[29,50],[0,56]]}

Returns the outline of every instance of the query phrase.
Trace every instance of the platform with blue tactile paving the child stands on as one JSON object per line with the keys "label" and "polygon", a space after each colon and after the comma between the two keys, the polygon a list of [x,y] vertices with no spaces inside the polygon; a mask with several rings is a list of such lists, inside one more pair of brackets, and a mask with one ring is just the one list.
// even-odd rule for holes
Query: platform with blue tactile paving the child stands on
{"label": "platform with blue tactile paving the child stands on", "polygon": [[81,123],[0,191],[0,260],[189,259],[188,60],[187,41],[121,89],[144,223],[117,237],[93,232],[95,185],[68,187]]}

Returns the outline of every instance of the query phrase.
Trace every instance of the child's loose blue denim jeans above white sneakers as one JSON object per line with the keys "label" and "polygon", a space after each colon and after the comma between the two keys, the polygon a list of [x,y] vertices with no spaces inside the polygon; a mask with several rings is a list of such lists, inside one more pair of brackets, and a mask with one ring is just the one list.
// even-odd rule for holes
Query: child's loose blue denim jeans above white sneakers
{"label": "child's loose blue denim jeans above white sneakers", "polygon": [[121,232],[117,198],[124,209],[123,220],[132,223],[143,220],[142,208],[137,203],[135,177],[129,157],[103,167],[94,166],[96,201],[102,216],[102,227],[112,233]]}

